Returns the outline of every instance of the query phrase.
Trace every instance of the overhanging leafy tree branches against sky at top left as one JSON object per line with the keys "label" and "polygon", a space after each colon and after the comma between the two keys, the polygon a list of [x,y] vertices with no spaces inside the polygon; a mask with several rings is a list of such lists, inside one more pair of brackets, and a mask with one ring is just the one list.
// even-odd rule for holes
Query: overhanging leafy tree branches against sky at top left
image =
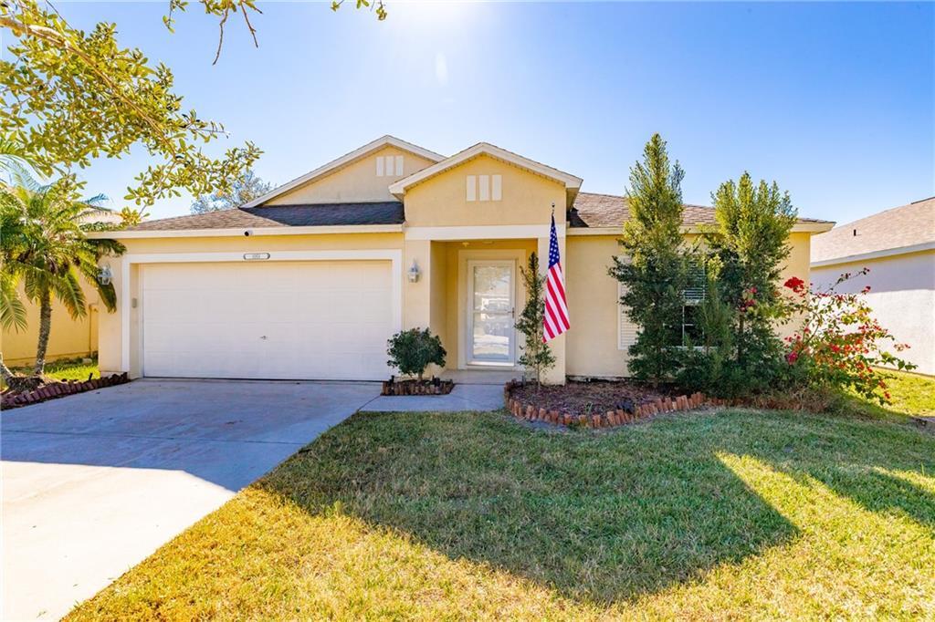
{"label": "overhanging leafy tree branches against sky at top left", "polygon": [[[224,24],[242,17],[249,32],[259,12],[254,0],[199,0],[218,18],[217,62]],[[335,3],[338,8],[343,0]],[[165,26],[186,0],[169,0]],[[382,2],[356,0],[356,7]],[[127,188],[125,199],[152,205],[158,199],[226,191],[260,156],[251,142],[228,148],[222,156],[201,146],[228,134],[221,123],[184,109],[173,91],[174,77],[165,64],[152,64],[140,49],[121,48],[117,26],[100,22],[88,32],[70,25],[51,5],[36,0],[0,3],[0,33],[10,41],[0,58],[0,136],[22,144],[43,177],[65,176],[98,157],[120,158],[145,148],[153,163]]]}

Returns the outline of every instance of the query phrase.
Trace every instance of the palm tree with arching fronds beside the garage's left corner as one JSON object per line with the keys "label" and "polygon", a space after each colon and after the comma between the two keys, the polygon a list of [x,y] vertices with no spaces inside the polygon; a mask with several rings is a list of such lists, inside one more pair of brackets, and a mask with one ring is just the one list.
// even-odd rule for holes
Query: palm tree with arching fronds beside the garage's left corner
{"label": "palm tree with arching fronds beside the garage's left corner", "polygon": [[[26,298],[39,307],[39,337],[35,376],[45,371],[51,329],[51,303],[57,298],[72,318],[87,314],[79,278],[93,283],[108,311],[116,308],[112,285],[97,281],[97,262],[105,255],[120,255],[124,248],[114,240],[89,240],[89,217],[110,210],[101,207],[103,195],[75,198],[73,181],[65,177],[40,186],[22,170],[14,170],[12,185],[0,182],[0,261],[3,262],[3,298],[0,322],[22,326],[16,286],[22,282]],[[18,318],[22,318],[22,321]],[[0,361],[0,372],[9,384],[12,375]],[[11,385],[12,386],[12,385]]]}

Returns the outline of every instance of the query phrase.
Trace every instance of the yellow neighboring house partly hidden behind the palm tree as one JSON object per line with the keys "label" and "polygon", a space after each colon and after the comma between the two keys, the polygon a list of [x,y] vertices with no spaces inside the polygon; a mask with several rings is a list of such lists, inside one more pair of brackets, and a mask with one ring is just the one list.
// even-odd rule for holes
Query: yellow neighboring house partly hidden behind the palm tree
{"label": "yellow neighboring house partly hidden behind the palm tree", "polygon": [[[117,213],[102,213],[95,214],[89,220],[120,223],[121,217]],[[2,338],[0,351],[3,352],[3,360],[11,367],[21,367],[36,362],[36,346],[39,340],[39,307],[26,300],[22,284],[19,291],[22,302],[26,306],[26,328],[22,331],[3,329],[0,335]],[[92,284],[83,280],[81,291],[84,292],[87,309],[83,318],[72,318],[58,299],[52,299],[52,322],[46,360],[90,357],[97,351],[97,318],[102,306],[100,296]]]}

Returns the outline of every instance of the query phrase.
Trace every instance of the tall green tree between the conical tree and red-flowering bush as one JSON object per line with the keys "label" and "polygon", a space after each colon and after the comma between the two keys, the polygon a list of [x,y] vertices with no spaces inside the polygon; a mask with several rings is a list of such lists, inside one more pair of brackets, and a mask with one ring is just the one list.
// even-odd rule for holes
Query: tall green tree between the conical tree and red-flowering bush
{"label": "tall green tree between the conical tree and red-flowering bush", "polygon": [[717,227],[706,234],[718,266],[722,298],[734,310],[735,360],[766,375],[779,351],[775,320],[781,312],[779,277],[789,257],[788,238],[797,212],[776,182],[755,184],[749,173],[712,193]]}

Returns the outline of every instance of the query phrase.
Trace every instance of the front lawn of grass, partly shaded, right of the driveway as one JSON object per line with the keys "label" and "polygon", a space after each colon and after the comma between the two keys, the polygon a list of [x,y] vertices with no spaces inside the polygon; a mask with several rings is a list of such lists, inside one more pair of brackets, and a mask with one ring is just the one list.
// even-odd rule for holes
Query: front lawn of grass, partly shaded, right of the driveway
{"label": "front lawn of grass, partly shaded, right of the driveway", "polygon": [[935,435],[357,415],[70,619],[932,618]]}

